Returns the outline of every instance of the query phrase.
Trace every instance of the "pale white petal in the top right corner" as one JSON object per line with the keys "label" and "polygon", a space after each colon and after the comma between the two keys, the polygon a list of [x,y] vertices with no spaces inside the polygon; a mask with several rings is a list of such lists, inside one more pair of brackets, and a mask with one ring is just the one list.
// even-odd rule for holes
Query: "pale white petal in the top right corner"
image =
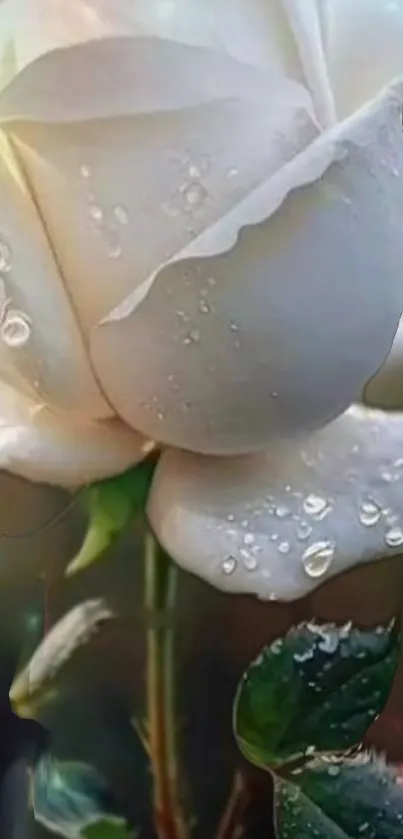
{"label": "pale white petal in the top right corner", "polygon": [[343,117],[402,75],[403,0],[326,0],[322,20],[329,77]]}

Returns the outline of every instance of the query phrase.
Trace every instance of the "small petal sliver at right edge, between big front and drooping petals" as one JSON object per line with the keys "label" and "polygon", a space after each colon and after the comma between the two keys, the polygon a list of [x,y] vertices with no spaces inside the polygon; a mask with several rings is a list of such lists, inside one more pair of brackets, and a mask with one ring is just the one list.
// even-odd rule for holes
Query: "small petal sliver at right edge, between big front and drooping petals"
{"label": "small petal sliver at right edge, between big front and drooping petals", "polygon": [[403,408],[403,319],[385,364],[365,388],[363,401],[373,408]]}

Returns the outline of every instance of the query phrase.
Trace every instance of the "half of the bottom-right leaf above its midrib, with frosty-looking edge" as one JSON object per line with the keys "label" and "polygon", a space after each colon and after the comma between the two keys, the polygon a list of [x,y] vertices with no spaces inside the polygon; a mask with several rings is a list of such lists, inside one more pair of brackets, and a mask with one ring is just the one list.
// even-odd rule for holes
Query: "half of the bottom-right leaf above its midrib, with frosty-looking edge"
{"label": "half of the bottom-right leaf above its midrib, with frosty-looking edge", "polygon": [[403,789],[379,757],[315,761],[295,776],[304,795],[346,835],[401,839]]}

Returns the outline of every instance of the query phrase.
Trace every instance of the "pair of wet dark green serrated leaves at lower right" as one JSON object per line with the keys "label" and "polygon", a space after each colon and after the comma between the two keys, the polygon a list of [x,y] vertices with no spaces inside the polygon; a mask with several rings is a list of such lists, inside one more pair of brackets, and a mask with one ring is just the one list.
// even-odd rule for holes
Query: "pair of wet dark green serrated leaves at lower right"
{"label": "pair of wet dark green serrated leaves at lower right", "polygon": [[398,839],[403,789],[379,759],[348,752],[388,698],[395,623],[375,631],[303,624],[245,673],[234,728],[253,763],[275,772],[279,839]]}

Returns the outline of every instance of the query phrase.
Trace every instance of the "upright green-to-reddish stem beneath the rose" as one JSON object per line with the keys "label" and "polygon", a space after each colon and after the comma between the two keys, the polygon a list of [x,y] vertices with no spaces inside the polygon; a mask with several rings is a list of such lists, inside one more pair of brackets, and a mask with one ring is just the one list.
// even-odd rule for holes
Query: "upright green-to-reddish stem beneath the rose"
{"label": "upright green-to-reddish stem beneath the rose", "polygon": [[[176,567],[148,533],[145,537],[145,605],[149,613],[148,740],[158,839],[189,839],[182,812],[176,759],[175,629],[172,618],[177,573]],[[161,617],[165,617],[165,624]]]}

